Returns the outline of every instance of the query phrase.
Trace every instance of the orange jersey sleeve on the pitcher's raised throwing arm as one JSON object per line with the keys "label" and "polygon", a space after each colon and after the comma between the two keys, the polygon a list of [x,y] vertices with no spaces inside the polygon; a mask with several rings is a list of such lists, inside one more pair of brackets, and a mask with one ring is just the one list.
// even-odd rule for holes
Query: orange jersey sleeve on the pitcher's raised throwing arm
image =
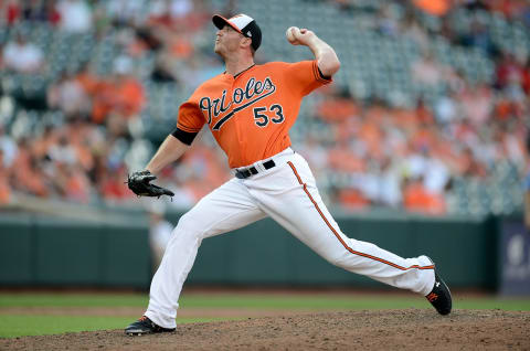
{"label": "orange jersey sleeve on the pitcher's raised throwing arm", "polygon": [[303,96],[332,82],[331,78],[321,75],[316,60],[287,64],[285,78],[289,87],[298,91]]}

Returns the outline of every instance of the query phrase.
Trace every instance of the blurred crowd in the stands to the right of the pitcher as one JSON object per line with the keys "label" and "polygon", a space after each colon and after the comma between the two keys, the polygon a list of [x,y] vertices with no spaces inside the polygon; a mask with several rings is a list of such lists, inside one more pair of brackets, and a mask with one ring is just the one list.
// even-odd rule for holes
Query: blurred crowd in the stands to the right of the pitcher
{"label": "blurred crowd in the stands to the right of the pitcher", "polygon": [[[344,11],[359,10],[356,1],[330,2]],[[331,187],[330,195],[346,208],[382,205],[445,214],[452,210],[447,194],[456,179],[488,184],[499,164],[516,169],[519,179],[530,171],[528,46],[500,47],[478,17],[467,31],[451,24],[454,11],[479,10],[518,21],[528,31],[530,2],[412,3],[414,8],[409,4],[400,17],[392,11],[393,3],[381,6],[373,30],[383,36],[413,40],[422,53],[409,67],[414,85],[424,91],[443,86],[444,91],[428,104],[420,94],[412,106],[377,99],[359,102],[348,89],[325,92],[316,117],[331,125],[332,132],[324,138],[312,135],[305,152],[317,164],[317,172],[332,180],[332,185],[339,179],[340,187]],[[426,29],[417,11],[437,17],[441,25]],[[495,65],[491,79],[471,83],[462,71],[437,61],[430,45],[435,35],[453,46],[480,51]],[[322,150],[322,141],[328,141],[327,151]],[[516,187],[522,193],[522,183]]]}

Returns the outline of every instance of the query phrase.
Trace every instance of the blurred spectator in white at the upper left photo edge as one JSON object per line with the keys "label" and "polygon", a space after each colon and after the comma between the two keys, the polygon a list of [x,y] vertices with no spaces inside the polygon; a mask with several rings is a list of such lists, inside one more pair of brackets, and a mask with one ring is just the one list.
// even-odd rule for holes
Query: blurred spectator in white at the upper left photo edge
{"label": "blurred spectator in white at the upper left photo edge", "polygon": [[44,54],[22,34],[14,42],[9,42],[3,50],[6,67],[19,73],[36,73],[44,66]]}

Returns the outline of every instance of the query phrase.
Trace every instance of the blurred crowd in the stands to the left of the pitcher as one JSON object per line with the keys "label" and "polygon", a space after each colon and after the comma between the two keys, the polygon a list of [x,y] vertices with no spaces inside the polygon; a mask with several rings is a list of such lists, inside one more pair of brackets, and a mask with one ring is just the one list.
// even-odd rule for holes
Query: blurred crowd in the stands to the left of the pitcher
{"label": "blurred crowd in the stands to the left of the pitcher", "polygon": [[[145,84],[134,59],[155,52],[157,63],[148,78],[155,83],[198,84],[205,68],[182,70],[213,57],[200,57],[191,43],[210,23],[211,10],[202,1],[2,1],[2,26],[49,23],[54,31],[94,33],[102,40],[117,32],[120,54],[108,75],[100,75],[89,60],[77,71],[64,71],[47,85],[45,104],[61,111],[60,126],[14,138],[0,128],[0,203],[15,191],[78,203],[105,201],[126,204],[134,196],[124,183],[127,162],[152,152],[149,140],[135,135],[135,123],[147,102]],[[147,12],[142,12],[146,10]],[[13,30],[14,31],[14,30]],[[2,46],[0,67],[6,73],[46,75],[50,62],[35,43],[20,32]],[[201,72],[200,72],[201,71]],[[198,73],[199,72],[199,73]],[[19,117],[20,115],[18,115]],[[173,116],[176,118],[176,116]],[[170,130],[168,130],[169,132]],[[145,143],[148,143],[145,147]],[[145,161],[149,156],[145,156]],[[190,206],[227,179],[227,170],[211,148],[199,145],[160,181],[179,188],[174,204]]]}

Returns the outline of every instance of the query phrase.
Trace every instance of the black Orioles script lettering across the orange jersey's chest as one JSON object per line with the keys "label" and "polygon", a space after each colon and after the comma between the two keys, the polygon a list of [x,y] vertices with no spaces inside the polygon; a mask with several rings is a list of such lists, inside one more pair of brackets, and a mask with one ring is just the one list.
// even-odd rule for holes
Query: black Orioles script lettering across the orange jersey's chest
{"label": "black Orioles script lettering across the orange jersey's chest", "polygon": [[232,105],[240,105],[215,123],[212,130],[219,130],[235,113],[257,103],[274,92],[276,92],[276,85],[274,85],[269,77],[266,77],[263,82],[252,77],[246,83],[244,91],[242,88],[234,89],[230,103],[226,103],[227,92],[224,89],[221,97],[211,98],[210,96],[204,96],[201,98],[199,107],[206,113],[208,124],[211,125],[213,119],[216,119],[220,115],[230,110],[233,107]]}

